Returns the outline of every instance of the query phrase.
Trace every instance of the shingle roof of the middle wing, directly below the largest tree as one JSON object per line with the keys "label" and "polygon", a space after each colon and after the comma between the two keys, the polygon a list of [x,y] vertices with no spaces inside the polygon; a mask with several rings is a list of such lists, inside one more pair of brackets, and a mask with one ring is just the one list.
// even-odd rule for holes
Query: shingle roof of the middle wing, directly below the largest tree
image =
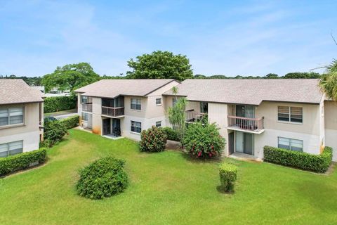
{"label": "shingle roof of the middle wing, directly below the largest tree", "polygon": [[75,92],[84,96],[115,98],[119,95],[146,96],[174,79],[102,79]]}

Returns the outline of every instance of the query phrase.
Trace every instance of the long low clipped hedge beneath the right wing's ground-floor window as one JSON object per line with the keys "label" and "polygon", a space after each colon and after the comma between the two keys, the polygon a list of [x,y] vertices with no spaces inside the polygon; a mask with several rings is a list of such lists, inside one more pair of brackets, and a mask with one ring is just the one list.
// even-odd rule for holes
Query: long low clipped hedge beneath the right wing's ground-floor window
{"label": "long low clipped hedge beneath the right wing's ground-floor window", "polygon": [[321,155],[313,155],[270,146],[265,146],[263,148],[263,153],[265,161],[267,162],[319,173],[326,172],[332,160],[332,148],[330,147],[325,147]]}

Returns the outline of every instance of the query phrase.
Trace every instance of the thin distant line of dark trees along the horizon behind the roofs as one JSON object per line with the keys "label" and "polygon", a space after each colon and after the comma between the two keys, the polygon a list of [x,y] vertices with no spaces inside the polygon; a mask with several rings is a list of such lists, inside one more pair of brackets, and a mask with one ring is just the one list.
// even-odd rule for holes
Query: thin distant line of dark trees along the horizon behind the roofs
{"label": "thin distant line of dark trees along the horizon behind the roofs", "polygon": [[[318,72],[289,72],[284,76],[279,76],[275,73],[270,73],[267,74],[263,77],[261,76],[241,76],[237,75],[235,77],[227,77],[225,75],[211,75],[211,76],[206,76],[206,75],[194,75],[193,79],[317,79],[320,78],[322,75],[319,74]],[[127,76],[118,75],[118,76],[108,76],[108,75],[103,75],[100,76],[101,79],[128,79]],[[6,78],[6,79],[23,79],[29,86],[42,86],[41,80],[42,77],[16,77],[15,75],[10,75],[10,76],[4,76],[0,75],[1,78]]]}

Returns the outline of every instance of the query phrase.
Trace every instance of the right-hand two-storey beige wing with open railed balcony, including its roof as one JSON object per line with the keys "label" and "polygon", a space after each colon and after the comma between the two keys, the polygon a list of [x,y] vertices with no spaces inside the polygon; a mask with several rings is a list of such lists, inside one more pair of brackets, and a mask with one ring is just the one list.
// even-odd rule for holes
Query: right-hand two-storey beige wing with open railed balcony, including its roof
{"label": "right-hand two-storey beige wing with open railed balcony, including its roof", "polygon": [[[187,79],[187,122],[205,113],[216,122],[227,145],[225,155],[263,158],[263,146],[319,154],[325,144],[337,160],[337,103],[325,101],[318,79]],[[173,105],[166,91],[166,109]],[[325,111],[325,113],[324,113]]]}

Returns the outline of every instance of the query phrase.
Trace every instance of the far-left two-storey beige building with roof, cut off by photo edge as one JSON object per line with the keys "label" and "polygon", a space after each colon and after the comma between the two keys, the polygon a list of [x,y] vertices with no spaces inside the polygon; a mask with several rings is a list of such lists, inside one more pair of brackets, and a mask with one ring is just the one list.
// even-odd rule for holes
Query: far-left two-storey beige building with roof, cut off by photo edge
{"label": "far-left two-storey beige building with roof, cut off by photo edge", "polygon": [[22,79],[0,79],[0,157],[39,149],[43,139],[41,91]]}

